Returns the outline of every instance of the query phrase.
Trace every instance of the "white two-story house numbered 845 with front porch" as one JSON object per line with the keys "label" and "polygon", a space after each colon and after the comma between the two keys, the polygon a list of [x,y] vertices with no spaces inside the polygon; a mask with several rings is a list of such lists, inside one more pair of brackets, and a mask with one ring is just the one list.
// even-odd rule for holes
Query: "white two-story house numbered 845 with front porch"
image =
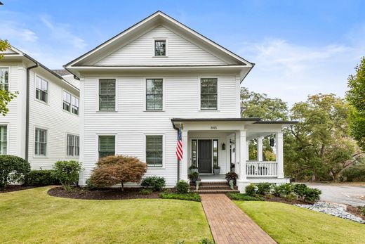
{"label": "white two-story house numbered 845 with front porch", "polygon": [[[253,65],[160,11],[65,65],[81,82],[79,183],[100,157],[114,154],[147,162],[147,176],[164,176],[167,186],[187,180],[190,165],[203,180],[224,181],[231,163],[240,191],[250,182],[288,182],[281,129],[290,122],[241,118],[240,84]],[[263,162],[262,139],[270,134],[277,161]],[[260,152],[254,162],[251,139]]]}

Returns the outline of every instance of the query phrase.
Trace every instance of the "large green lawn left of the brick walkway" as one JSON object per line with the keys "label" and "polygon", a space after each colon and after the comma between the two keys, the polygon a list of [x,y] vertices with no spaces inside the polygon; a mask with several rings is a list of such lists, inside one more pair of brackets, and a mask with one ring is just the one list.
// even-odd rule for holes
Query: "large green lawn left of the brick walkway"
{"label": "large green lawn left of the brick walkway", "polygon": [[0,193],[0,243],[198,243],[212,239],[201,203],[55,198],[50,187]]}

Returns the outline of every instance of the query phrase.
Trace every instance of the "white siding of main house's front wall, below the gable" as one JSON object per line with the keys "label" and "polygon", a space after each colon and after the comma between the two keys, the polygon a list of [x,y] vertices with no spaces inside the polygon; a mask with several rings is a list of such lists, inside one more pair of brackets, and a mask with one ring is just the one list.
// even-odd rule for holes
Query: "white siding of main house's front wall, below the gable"
{"label": "white siding of main house's front wall, below the gable", "polygon": [[[145,111],[145,79],[164,79],[164,111]],[[145,161],[145,134],[164,134],[164,168],[148,169],[148,175],[164,176],[168,186],[176,181],[176,131],[171,124],[173,117],[239,117],[239,79],[234,75],[204,75],[218,78],[218,110],[200,110],[200,77],[185,76],[141,76],[109,77],[117,79],[117,112],[98,112],[98,79],[81,79],[81,162],[86,169],[81,177],[88,179],[98,160],[98,135],[115,134],[117,154],[133,155]],[[101,77],[100,78],[105,78]],[[226,143],[229,150],[229,145]],[[80,181],[84,184],[84,181]]]}

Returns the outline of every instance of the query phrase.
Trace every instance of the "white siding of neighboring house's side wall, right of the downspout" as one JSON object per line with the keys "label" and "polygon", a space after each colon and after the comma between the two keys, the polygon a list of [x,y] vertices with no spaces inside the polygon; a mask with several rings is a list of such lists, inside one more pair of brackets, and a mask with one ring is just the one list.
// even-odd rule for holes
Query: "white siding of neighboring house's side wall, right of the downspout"
{"label": "white siding of neighboring house's side wall, right of the downspout", "polygon": [[[35,98],[35,77],[48,81],[48,104]],[[79,135],[79,116],[62,110],[62,89],[79,97],[79,91],[63,84],[49,72],[40,68],[30,72],[29,93],[29,162],[33,169],[51,169],[58,160],[79,160],[66,156],[66,135]],[[35,128],[47,129],[46,157],[34,155]]]}

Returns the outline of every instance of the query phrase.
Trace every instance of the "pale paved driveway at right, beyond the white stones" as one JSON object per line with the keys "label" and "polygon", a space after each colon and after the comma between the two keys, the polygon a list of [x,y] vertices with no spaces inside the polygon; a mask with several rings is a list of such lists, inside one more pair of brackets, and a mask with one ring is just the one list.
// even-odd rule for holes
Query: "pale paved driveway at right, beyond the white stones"
{"label": "pale paved driveway at right, beyond the white stones", "polygon": [[322,191],[321,200],[332,203],[343,203],[352,206],[365,206],[365,186],[350,186],[346,184],[316,184],[306,183],[307,186]]}

